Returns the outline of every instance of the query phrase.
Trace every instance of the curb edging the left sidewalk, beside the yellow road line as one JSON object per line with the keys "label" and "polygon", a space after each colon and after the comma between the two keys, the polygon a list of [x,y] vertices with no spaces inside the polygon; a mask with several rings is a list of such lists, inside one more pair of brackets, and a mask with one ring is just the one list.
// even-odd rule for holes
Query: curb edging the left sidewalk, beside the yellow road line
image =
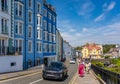
{"label": "curb edging the left sidewalk, beside the yellow road line", "polygon": [[37,73],[37,72],[42,73],[42,70],[40,70],[40,71],[28,72],[28,73],[22,73],[22,72],[19,72],[19,73],[17,73],[17,75],[16,75],[16,76],[11,76],[11,77],[6,77],[6,76],[3,76],[3,78],[2,78],[2,79],[0,79],[0,81],[4,81],[4,80],[8,80],[8,79],[12,79],[12,78],[16,78],[16,77],[20,77],[20,76],[25,76],[25,75],[28,75],[28,74],[33,74],[33,73]]}

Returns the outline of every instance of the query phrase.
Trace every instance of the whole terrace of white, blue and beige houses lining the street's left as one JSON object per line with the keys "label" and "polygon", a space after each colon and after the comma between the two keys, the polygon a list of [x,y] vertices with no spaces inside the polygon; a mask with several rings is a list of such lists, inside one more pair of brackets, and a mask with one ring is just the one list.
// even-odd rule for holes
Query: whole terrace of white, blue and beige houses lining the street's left
{"label": "whole terrace of white, blue and beige houses lining the street's left", "polygon": [[46,0],[0,0],[0,73],[63,59],[57,14]]}

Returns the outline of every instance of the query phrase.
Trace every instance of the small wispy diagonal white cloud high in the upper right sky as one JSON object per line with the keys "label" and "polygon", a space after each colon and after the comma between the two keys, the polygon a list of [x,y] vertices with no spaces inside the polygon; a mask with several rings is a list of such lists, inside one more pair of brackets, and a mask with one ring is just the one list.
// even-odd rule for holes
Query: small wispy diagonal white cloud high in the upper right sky
{"label": "small wispy diagonal white cloud high in the upper right sky", "polygon": [[94,19],[94,22],[99,22],[101,20],[103,20],[105,18],[105,16],[108,14],[109,11],[111,11],[112,9],[114,9],[116,3],[115,2],[111,2],[109,5],[107,3],[103,4],[103,13],[100,14],[99,16],[97,16]]}

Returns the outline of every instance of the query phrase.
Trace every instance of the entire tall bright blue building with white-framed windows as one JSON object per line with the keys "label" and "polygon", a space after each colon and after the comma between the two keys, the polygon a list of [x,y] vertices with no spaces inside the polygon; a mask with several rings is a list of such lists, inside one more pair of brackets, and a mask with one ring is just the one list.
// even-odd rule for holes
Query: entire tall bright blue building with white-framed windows
{"label": "entire tall bright blue building with white-framed windows", "polygon": [[14,46],[23,68],[56,59],[56,12],[46,0],[14,1]]}

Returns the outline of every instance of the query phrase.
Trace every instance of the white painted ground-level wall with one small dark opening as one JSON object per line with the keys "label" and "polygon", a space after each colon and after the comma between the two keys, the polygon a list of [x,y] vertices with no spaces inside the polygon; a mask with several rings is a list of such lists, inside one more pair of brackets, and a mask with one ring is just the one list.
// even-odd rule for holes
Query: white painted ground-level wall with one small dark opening
{"label": "white painted ground-level wall with one small dark opening", "polygon": [[[9,60],[8,60],[9,59]],[[0,73],[23,70],[23,56],[0,56]]]}

